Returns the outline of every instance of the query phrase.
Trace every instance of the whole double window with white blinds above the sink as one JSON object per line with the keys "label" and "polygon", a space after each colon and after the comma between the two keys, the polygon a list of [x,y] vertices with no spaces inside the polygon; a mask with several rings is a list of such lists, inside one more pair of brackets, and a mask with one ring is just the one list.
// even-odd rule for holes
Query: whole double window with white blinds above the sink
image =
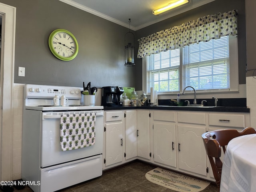
{"label": "whole double window with white blinds above the sink", "polygon": [[[154,87],[159,93],[177,93],[186,86],[197,92],[238,90],[237,60],[233,36],[151,54],[146,57],[146,90]],[[235,82],[230,73],[236,74]]]}

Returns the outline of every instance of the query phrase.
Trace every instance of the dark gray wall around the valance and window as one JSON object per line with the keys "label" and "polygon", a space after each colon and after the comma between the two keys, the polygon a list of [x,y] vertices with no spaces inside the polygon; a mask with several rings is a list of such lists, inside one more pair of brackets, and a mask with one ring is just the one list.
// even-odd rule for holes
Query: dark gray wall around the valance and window
{"label": "dark gray wall around the valance and window", "polygon": [[[246,26],[245,26],[245,0],[215,0],[206,5],[184,12],[172,18],[163,20],[151,26],[136,31],[136,39],[148,36],[155,32],[181,25],[184,22],[196,20],[209,14],[223,13],[229,10],[238,12],[238,69],[239,84],[246,84]],[[135,45],[135,54],[138,53],[138,42]],[[136,59],[136,88],[142,89],[142,59]]]}

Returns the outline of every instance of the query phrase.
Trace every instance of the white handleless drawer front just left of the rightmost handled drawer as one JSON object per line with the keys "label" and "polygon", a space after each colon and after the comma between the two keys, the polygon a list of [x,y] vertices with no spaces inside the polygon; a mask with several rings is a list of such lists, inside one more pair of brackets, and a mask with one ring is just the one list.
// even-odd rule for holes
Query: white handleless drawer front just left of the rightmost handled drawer
{"label": "white handleless drawer front just left of the rightmost handled drawer", "polygon": [[206,114],[193,112],[178,112],[178,122],[206,125]]}

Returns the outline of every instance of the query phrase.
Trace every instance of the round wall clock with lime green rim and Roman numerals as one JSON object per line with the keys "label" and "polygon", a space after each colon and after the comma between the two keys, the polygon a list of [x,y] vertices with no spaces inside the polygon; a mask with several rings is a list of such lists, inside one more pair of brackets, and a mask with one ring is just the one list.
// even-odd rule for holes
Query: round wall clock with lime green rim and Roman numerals
{"label": "round wall clock with lime green rim and Roman numerals", "polygon": [[48,40],[49,48],[58,59],[70,61],[78,54],[78,42],[75,36],[65,29],[54,30]]}

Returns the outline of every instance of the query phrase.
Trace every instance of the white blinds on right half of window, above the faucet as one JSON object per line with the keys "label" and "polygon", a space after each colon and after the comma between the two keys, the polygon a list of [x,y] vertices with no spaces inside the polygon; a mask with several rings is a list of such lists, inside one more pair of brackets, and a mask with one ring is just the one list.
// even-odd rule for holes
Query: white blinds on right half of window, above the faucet
{"label": "white blinds on right half of window, above the faucet", "polygon": [[186,46],[183,57],[183,87],[193,86],[196,90],[230,88],[228,36]]}

